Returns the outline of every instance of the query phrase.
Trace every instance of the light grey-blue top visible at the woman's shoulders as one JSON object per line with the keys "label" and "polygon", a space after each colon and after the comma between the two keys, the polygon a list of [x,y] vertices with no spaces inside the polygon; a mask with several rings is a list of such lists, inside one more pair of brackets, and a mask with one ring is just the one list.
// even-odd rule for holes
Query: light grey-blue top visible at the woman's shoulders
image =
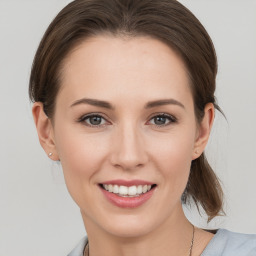
{"label": "light grey-blue top visible at the woman's shoulders", "polygon": [[[84,237],[67,256],[83,256],[87,244]],[[201,256],[256,256],[256,235],[240,234],[219,229]]]}

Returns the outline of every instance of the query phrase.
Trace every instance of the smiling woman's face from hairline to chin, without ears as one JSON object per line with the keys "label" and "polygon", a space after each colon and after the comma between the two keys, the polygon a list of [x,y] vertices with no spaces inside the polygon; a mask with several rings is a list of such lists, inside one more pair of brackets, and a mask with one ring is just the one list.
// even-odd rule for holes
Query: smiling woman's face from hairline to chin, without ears
{"label": "smiling woman's face from hairline to chin, without ears", "polygon": [[130,237],[179,219],[200,132],[186,68],[167,45],[80,44],[64,62],[53,134],[88,227]]}

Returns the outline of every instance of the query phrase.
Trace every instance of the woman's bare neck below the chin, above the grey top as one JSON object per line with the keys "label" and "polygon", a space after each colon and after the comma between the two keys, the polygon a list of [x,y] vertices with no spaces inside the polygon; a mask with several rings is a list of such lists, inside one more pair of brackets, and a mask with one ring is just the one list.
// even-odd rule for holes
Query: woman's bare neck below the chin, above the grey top
{"label": "woman's bare neck below the chin, above the grey top", "polygon": [[141,236],[120,237],[110,234],[83,215],[90,256],[187,256],[193,226],[186,219],[182,207],[157,229]]}

